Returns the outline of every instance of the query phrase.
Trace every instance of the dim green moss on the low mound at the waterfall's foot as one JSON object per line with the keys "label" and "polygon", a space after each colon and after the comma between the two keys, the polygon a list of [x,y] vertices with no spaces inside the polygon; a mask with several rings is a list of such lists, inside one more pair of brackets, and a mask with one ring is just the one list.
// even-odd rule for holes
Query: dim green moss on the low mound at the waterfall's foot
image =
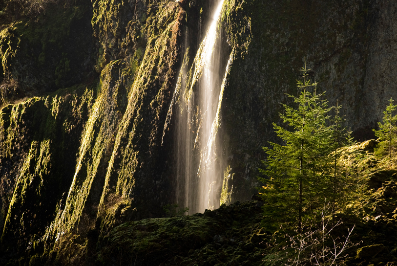
{"label": "dim green moss on the low mound at the waterfall's foot", "polygon": [[[146,219],[139,222],[127,222],[113,229],[108,236],[108,244],[101,250],[98,261],[106,265],[109,259],[118,260],[137,257],[141,261],[150,254],[151,261],[161,259],[163,254],[180,254],[191,248],[199,248],[209,242],[213,232],[221,224],[210,217],[186,216],[176,218]],[[142,253],[142,250],[146,250]]]}

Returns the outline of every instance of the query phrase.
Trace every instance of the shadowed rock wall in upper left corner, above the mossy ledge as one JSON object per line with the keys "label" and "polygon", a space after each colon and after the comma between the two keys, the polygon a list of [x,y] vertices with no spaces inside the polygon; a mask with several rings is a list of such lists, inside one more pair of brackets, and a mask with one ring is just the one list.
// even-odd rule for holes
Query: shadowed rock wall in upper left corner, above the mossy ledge
{"label": "shadowed rock wall in upper left corner, above the mossy ledge", "polygon": [[45,12],[32,17],[21,10],[11,21],[10,9],[18,1],[5,2],[0,17],[9,24],[0,27],[0,106],[92,81],[95,45],[89,0],[44,0],[42,5],[49,2]]}

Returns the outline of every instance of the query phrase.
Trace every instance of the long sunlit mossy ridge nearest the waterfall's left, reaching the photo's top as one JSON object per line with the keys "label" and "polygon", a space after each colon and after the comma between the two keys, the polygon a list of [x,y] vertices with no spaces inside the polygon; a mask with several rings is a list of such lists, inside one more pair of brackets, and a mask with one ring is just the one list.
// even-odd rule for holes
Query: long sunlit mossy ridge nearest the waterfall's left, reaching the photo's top
{"label": "long sunlit mossy ridge nearest the waterfall's left, reaching the photo's top", "polygon": [[[142,173],[140,165],[143,162],[142,156],[146,153],[144,151],[148,147],[152,149],[155,143],[153,138],[161,140],[159,133],[162,125],[153,128],[146,121],[157,123],[160,112],[164,113],[168,108],[164,105],[163,94],[166,89],[170,89],[167,71],[173,71],[172,64],[175,61],[172,49],[175,48],[173,38],[176,32],[173,32],[173,27],[176,23],[176,8],[169,4],[168,8],[151,9],[153,11],[155,12],[147,16],[146,25],[140,29],[140,33],[131,36],[134,39],[145,39],[147,43],[141,43],[146,45],[145,48],[135,47],[134,55],[125,70],[134,73],[134,82],[128,88],[127,108],[115,136],[100,209],[106,205],[109,195],[119,195],[122,199],[132,201],[136,191],[135,178]],[[160,18],[161,22],[153,19],[155,17]],[[157,132],[152,133],[150,144],[145,144],[147,140],[142,137],[151,127]],[[131,206],[137,207],[136,203],[131,203]]]}

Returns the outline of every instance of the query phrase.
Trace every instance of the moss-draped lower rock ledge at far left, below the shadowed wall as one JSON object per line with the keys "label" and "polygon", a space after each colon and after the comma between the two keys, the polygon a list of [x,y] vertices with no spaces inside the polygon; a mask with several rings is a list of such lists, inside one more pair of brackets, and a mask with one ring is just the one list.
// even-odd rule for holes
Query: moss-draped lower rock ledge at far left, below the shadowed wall
{"label": "moss-draped lower rock ledge at far left, below the shadowed wall", "polygon": [[[5,249],[42,250],[45,226],[73,177],[70,165],[92,100],[91,88],[76,86],[8,105],[0,112],[0,169],[9,177],[18,175],[12,193],[1,195],[2,204],[12,195],[9,206],[1,206],[7,212],[1,237]],[[12,168],[7,168],[10,163]],[[3,180],[13,180],[9,177]]]}

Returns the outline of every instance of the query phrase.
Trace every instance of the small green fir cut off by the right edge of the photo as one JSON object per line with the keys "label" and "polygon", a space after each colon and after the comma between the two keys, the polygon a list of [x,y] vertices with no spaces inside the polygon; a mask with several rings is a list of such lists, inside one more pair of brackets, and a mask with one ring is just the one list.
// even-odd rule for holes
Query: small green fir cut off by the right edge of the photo
{"label": "small green fir cut off by the right edge of the photo", "polygon": [[378,122],[379,130],[374,130],[375,135],[380,140],[375,154],[378,156],[389,155],[390,159],[392,155],[394,157],[396,150],[397,115],[393,115],[396,111],[396,107],[397,105],[394,105],[393,99],[390,98],[389,105],[386,106],[386,110],[383,111],[383,123]]}

